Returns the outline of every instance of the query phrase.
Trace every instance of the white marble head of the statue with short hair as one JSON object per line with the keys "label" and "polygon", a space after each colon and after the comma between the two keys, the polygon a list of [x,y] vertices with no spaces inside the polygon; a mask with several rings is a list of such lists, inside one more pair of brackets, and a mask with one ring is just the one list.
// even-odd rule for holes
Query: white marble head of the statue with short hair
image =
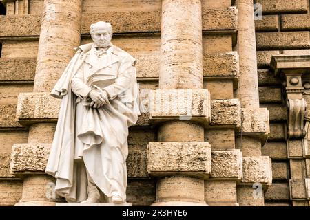
{"label": "white marble head of the statue with short hair", "polygon": [[97,47],[107,47],[111,42],[112,34],[110,23],[98,21],[90,25],[90,35]]}

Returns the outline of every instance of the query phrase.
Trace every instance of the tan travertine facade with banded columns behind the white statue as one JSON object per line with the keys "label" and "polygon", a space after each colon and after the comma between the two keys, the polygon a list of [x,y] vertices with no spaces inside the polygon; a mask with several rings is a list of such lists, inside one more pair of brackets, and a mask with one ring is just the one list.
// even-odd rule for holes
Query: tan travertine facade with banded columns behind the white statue
{"label": "tan travertine facade with banded columns behind the white statue", "polygon": [[44,173],[60,104],[49,93],[103,18],[137,59],[127,202],[310,206],[309,0],[0,6],[0,206],[63,202]]}

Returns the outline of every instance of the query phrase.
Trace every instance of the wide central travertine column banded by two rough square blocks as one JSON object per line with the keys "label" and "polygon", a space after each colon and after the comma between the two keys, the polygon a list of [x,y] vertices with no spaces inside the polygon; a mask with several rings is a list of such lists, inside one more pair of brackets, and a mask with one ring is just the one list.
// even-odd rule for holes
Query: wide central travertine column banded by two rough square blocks
{"label": "wide central travertine column banded by two rough square blocks", "polygon": [[[203,89],[203,46],[200,0],[162,1],[160,66],[159,90],[161,92],[158,91],[158,94],[161,93],[161,98],[158,99],[163,101],[166,100],[165,96],[170,97],[167,100],[167,106],[176,107],[177,104],[172,102],[177,102],[176,100],[180,98],[184,101],[182,104],[186,105],[187,100],[192,98],[192,89],[201,89],[198,92],[200,94],[203,94],[203,92],[208,93],[207,89]],[[185,92],[182,93],[182,91]],[[192,112],[192,109],[190,111]],[[176,111],[172,113],[172,115],[175,114]],[[179,152],[181,151],[180,149],[185,147],[185,142],[189,143],[193,147],[193,151],[197,152],[204,151],[205,148],[209,147],[207,146],[208,143],[204,142],[203,126],[192,122],[191,119],[181,120],[177,115],[176,119],[167,121],[166,118],[164,120],[165,122],[158,129],[158,142],[161,143],[153,144],[167,146],[167,149],[163,148],[163,151],[175,150]],[[173,142],[174,144],[169,145],[169,142]],[[199,144],[192,145],[192,142],[207,145],[204,146],[202,144],[202,147],[199,148]],[[156,148],[159,149],[161,147],[158,145]],[[159,153],[164,154],[164,152]],[[186,152],[183,153],[184,157],[191,157],[191,155],[196,154],[189,155]],[[148,156],[152,157],[152,155]],[[166,156],[162,156],[168,159],[172,155],[167,154]],[[176,163],[184,166],[186,162],[183,162],[183,159],[179,158]],[[153,165],[150,164],[150,166]],[[154,206],[175,204],[191,206],[205,205],[203,179],[197,178],[194,174],[195,171],[187,170],[187,168],[172,168],[172,170],[174,171],[171,171],[170,175],[165,175],[165,177],[161,177],[158,180],[156,203],[154,203]],[[185,175],[185,173],[191,173],[192,175]],[[207,174],[205,175],[207,176]]]}

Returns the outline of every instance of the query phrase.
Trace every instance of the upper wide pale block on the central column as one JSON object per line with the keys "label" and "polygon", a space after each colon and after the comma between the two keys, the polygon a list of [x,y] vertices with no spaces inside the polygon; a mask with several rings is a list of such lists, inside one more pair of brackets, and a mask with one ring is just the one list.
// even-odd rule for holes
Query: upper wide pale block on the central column
{"label": "upper wide pale block on the central column", "polygon": [[207,89],[156,89],[149,93],[151,122],[191,120],[207,126],[211,116]]}

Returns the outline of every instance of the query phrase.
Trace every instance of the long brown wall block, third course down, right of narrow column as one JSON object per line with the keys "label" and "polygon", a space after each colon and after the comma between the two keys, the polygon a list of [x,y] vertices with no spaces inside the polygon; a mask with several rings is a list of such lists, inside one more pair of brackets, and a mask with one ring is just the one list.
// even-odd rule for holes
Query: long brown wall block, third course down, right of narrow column
{"label": "long brown wall block, third course down, right of narrow column", "polygon": [[256,33],[258,50],[309,49],[309,32],[265,32]]}

